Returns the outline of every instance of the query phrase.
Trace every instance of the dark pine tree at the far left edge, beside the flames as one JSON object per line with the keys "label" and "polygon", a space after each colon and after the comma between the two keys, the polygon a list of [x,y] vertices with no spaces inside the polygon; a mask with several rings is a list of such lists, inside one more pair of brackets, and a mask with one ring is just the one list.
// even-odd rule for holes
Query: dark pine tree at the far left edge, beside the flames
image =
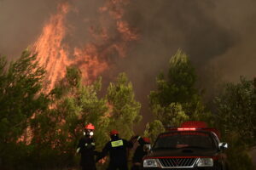
{"label": "dark pine tree at the far left edge, beside the flames", "polygon": [[45,109],[41,93],[44,69],[38,66],[36,55],[24,51],[20,59],[9,64],[0,59],[0,139],[16,142],[27,127],[27,120]]}

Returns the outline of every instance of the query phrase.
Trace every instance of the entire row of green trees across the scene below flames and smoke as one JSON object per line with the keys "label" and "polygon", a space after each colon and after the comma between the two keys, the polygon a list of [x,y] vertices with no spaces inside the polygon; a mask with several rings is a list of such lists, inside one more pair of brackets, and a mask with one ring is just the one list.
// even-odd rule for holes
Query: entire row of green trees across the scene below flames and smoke
{"label": "entire row of green trees across the scene below flames and smoke", "polygon": [[[99,151],[113,128],[125,139],[135,134],[133,127],[142,119],[141,104],[125,73],[109,83],[102,97],[101,77],[85,84],[75,66],[67,67],[66,77],[50,92],[45,90],[44,77],[37,55],[27,50],[15,62],[0,57],[0,169],[78,166],[76,145],[89,122],[96,126]],[[218,127],[222,140],[230,144],[230,169],[253,169],[248,150],[256,141],[256,81],[241,77],[241,82],[224,84],[211,110],[201,101],[196,80],[189,57],[178,50],[167,75],[156,78],[157,88],[148,95],[154,121],[148,122],[143,135],[154,142],[166,127],[203,120]]]}

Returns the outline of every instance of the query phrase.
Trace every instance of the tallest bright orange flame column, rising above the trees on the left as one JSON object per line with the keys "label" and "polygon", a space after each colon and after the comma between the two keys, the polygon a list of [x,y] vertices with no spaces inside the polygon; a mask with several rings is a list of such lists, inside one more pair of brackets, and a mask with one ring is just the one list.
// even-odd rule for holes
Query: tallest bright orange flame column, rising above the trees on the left
{"label": "tallest bright orange flame column, rising above the trees on the left", "polygon": [[49,89],[54,87],[59,77],[64,77],[66,66],[70,64],[67,58],[67,46],[65,48],[61,43],[66,36],[64,20],[69,6],[67,3],[61,4],[58,10],[57,14],[50,17],[49,23],[44,26],[42,34],[34,44],[39,64],[43,65],[47,71]]}

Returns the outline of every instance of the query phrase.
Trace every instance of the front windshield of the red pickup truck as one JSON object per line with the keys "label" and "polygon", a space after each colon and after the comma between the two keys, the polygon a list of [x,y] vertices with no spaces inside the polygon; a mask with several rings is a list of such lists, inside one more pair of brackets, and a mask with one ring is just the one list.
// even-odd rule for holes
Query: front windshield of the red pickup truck
{"label": "front windshield of the red pickup truck", "polygon": [[160,134],[153,147],[153,149],[180,148],[213,150],[216,148],[216,142],[210,133],[172,132]]}

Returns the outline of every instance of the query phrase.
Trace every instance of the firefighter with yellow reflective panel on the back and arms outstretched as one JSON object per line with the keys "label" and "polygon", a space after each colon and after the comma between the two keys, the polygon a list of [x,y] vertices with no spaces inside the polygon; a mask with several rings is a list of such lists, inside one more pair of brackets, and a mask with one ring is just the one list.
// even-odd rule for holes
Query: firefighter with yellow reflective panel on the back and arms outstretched
{"label": "firefighter with yellow reflective panel on the back and arms outstretched", "polygon": [[102,159],[109,153],[109,164],[107,170],[128,170],[127,150],[133,146],[134,137],[130,141],[119,138],[119,132],[112,130],[110,132],[111,140],[104,146],[101,156],[97,160]]}

